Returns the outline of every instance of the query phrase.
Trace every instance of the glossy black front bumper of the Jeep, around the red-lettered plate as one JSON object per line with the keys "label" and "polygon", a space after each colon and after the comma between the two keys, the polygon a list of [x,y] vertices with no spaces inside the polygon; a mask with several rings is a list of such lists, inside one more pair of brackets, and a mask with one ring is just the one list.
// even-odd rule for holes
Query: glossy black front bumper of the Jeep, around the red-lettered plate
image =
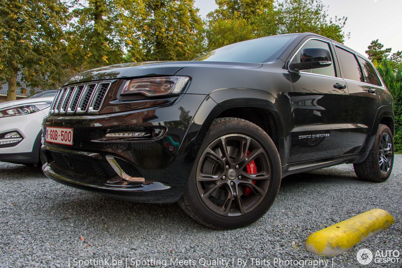
{"label": "glossy black front bumper of the Jeep, around the red-lettered plate", "polygon": [[[187,130],[205,95],[183,94],[169,107],[115,114],[48,116],[43,126],[73,128],[73,145],[46,142],[45,175],[55,181],[124,200],[176,202],[183,193],[194,159],[188,157]],[[107,141],[107,132],[144,128],[166,131],[158,139]],[[110,159],[131,178],[124,179]]]}

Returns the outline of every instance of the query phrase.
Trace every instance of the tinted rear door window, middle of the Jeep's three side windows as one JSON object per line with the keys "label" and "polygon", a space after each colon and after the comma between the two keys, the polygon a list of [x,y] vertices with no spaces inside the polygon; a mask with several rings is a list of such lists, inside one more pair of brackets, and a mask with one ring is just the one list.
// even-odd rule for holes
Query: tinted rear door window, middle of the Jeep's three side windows
{"label": "tinted rear door window, middle of the Jeep's three side windows", "polygon": [[355,54],[340,47],[336,47],[336,54],[341,62],[344,78],[364,82],[363,73],[361,72]]}

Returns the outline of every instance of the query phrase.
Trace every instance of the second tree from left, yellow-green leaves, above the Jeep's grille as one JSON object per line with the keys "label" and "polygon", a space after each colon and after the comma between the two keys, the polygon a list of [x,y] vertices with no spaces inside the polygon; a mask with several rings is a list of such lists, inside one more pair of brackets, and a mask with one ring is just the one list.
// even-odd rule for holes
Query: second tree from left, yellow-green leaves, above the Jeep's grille
{"label": "second tree from left, yellow-green leaves, above the Jeep's grille", "polygon": [[139,51],[139,0],[75,0],[68,31],[68,53],[73,66],[91,69],[124,62],[124,49]]}

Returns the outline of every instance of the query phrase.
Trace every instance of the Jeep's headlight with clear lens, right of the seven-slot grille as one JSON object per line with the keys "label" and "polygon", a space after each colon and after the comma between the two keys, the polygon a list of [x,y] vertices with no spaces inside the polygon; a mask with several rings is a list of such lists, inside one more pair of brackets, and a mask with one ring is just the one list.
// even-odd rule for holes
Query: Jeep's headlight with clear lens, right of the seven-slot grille
{"label": "Jeep's headlight with clear lens, right of the seven-slot grille", "polygon": [[142,94],[147,97],[178,95],[188,81],[189,77],[187,76],[133,79],[126,82],[121,94]]}

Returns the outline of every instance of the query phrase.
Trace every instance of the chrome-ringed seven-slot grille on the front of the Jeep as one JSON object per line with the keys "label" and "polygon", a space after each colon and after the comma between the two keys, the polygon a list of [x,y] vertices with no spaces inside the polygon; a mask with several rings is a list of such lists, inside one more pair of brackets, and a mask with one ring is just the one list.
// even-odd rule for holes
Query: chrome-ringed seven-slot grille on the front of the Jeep
{"label": "chrome-ringed seven-slot grille on the front of the Jeep", "polygon": [[96,113],[105,100],[111,82],[64,87],[57,92],[49,114]]}

